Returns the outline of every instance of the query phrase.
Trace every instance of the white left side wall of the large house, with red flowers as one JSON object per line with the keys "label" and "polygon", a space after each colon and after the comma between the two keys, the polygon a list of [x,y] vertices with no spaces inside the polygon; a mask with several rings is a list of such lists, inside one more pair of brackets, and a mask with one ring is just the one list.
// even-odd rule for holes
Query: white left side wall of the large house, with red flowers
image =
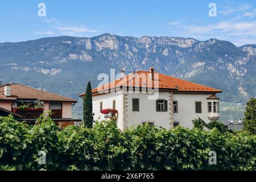
{"label": "white left side wall of the large house, with red flowers", "polygon": [[115,109],[118,110],[117,126],[123,131],[123,93],[102,94],[93,96],[93,113],[95,121],[107,120],[104,114],[100,112],[100,102],[102,101],[102,109],[113,109],[113,100],[115,100]]}

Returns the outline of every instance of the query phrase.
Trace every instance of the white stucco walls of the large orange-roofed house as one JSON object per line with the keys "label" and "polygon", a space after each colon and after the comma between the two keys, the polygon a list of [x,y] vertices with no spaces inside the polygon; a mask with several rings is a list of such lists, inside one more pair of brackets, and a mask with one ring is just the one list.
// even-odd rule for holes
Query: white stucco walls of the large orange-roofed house
{"label": "white stucco walls of the large orange-roofed house", "polygon": [[[193,128],[192,120],[200,117],[209,123],[208,119],[208,101],[207,98],[212,94],[176,94],[173,100],[177,101],[178,112],[174,113],[174,121],[180,122],[181,126]],[[133,98],[139,98],[139,111],[133,111]],[[159,92],[159,100],[167,100],[169,105],[169,93]],[[123,93],[103,94],[93,97],[93,113],[95,120],[106,120],[104,114],[100,113],[100,102],[102,101],[102,109],[112,109],[113,100],[115,100],[115,108],[118,110],[117,126],[123,131]],[[202,113],[196,113],[195,102],[202,103]],[[161,126],[170,129],[170,107],[168,111],[156,111],[156,100],[148,99],[146,93],[128,93],[127,94],[127,127],[138,126],[143,122],[154,122],[155,126]]]}

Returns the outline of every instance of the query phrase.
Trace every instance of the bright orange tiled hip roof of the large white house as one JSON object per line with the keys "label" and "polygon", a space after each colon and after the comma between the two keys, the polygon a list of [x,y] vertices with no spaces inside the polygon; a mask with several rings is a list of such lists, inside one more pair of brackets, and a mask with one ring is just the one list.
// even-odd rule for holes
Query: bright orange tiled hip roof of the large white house
{"label": "bright orange tiled hip roof of the large white house", "polygon": [[[150,79],[149,71],[137,71],[131,73],[124,78],[119,78],[113,82],[102,85],[92,90],[92,93],[99,93],[111,89],[119,89],[120,87],[129,88],[158,88],[172,89],[176,92],[214,92],[219,93],[222,90],[210,88],[209,86],[196,84],[195,82],[182,80],[162,73],[154,72],[154,81]],[[84,96],[85,93],[79,96]]]}

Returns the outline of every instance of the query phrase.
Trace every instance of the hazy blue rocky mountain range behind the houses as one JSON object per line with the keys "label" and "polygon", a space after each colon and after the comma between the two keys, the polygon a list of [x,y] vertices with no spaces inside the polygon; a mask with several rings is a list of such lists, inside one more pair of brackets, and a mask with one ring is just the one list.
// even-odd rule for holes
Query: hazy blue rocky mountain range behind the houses
{"label": "hazy blue rocky mountain range behind the houses", "polygon": [[[222,89],[221,101],[246,104],[256,96],[256,45],[237,47],[218,39],[199,41],[168,36],[92,38],[61,36],[0,43],[0,81],[30,85],[79,99],[100,73],[148,70]],[[75,115],[81,115],[81,100]],[[225,113],[224,113],[225,114]]]}

